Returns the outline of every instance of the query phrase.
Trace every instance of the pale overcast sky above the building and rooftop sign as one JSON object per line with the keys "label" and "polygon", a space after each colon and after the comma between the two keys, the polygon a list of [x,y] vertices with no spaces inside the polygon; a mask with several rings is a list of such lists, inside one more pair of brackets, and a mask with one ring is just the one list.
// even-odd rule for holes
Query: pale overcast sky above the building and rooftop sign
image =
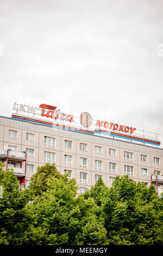
{"label": "pale overcast sky above the building and rooftop sign", "polygon": [[0,32],[0,115],[46,103],[163,141],[162,0],[0,0]]}

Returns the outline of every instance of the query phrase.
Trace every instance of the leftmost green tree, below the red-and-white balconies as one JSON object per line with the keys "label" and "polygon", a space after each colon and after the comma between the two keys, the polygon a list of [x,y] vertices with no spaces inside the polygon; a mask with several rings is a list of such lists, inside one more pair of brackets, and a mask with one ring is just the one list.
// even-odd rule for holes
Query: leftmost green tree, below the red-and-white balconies
{"label": "leftmost green tree, below the red-and-white balconies", "polygon": [[[0,245],[23,245],[29,239],[39,240],[39,232],[33,227],[32,212],[26,208],[29,202],[28,191],[20,191],[12,169],[4,170],[0,162],[0,185],[3,197],[0,198]],[[29,233],[33,229],[33,237]]]}

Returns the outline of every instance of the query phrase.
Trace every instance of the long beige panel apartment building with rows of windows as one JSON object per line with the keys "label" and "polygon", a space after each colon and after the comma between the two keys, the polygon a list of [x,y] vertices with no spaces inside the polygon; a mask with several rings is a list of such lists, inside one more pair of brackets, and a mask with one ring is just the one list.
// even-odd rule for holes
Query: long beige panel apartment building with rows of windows
{"label": "long beige panel apartment building with rows of windows", "polygon": [[154,184],[159,194],[163,190],[163,149],[23,115],[0,117],[0,161],[13,168],[20,185],[26,187],[37,166],[48,162],[76,179],[79,193],[95,185],[100,176],[111,186],[117,175],[126,174],[146,186]]}

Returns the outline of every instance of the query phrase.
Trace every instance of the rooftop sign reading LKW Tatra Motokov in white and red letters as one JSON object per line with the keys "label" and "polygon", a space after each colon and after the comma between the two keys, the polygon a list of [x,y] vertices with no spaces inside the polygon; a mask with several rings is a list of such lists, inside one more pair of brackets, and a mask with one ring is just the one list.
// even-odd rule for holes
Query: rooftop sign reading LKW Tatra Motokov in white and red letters
{"label": "rooftop sign reading LKW Tatra Motokov in white and red letters", "polygon": [[[12,114],[12,118],[15,118],[15,119],[16,118],[21,119],[20,118],[21,115],[19,114],[19,112],[21,113],[23,112],[23,113],[27,113],[28,115],[28,116],[27,115],[23,116],[23,119],[26,119],[28,121],[35,120],[35,123],[50,124],[53,127],[54,126],[62,127],[64,130],[65,129],[76,130],[76,131],[85,132],[89,134],[92,133],[94,135],[95,134],[104,135],[106,137],[112,136],[115,138],[131,139],[131,141],[139,141],[139,142],[146,141],[146,143],[151,143],[154,145],[160,144],[160,142],[158,142],[157,137],[156,139],[152,139],[152,140],[145,139],[143,130],[137,130],[135,127],[131,127],[123,124],[109,123],[108,120],[99,120],[99,119],[93,120],[91,117],[91,114],[87,112],[81,113],[79,117],[74,117],[74,115],[72,114],[61,112],[60,109],[58,109],[56,106],[51,106],[46,104],[40,104],[39,108],[37,108],[29,105],[14,103],[13,109],[14,111],[16,111],[16,113]],[[37,119],[36,115],[43,117],[43,120],[47,120],[47,121],[43,121],[42,119]],[[62,124],[59,123],[60,121]],[[67,123],[68,123],[68,126],[67,126]],[[71,124],[71,127],[70,127],[70,124]],[[82,125],[82,128],[80,128],[81,125]],[[135,132],[135,130],[141,131],[141,132],[143,131],[143,135],[139,133],[138,136],[136,134],[133,136],[133,133]],[[155,133],[153,134],[155,135]]]}

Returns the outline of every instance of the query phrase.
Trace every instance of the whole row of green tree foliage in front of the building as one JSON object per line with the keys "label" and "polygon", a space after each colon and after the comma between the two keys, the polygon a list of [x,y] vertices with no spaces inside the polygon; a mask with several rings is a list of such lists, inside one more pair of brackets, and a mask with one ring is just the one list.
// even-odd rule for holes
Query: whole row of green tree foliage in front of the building
{"label": "whole row of green tree foliage in front of the building", "polygon": [[55,164],[38,167],[31,180],[20,191],[0,164],[2,245],[163,245],[163,200],[154,186],[117,176],[110,188],[99,178],[78,194]]}

